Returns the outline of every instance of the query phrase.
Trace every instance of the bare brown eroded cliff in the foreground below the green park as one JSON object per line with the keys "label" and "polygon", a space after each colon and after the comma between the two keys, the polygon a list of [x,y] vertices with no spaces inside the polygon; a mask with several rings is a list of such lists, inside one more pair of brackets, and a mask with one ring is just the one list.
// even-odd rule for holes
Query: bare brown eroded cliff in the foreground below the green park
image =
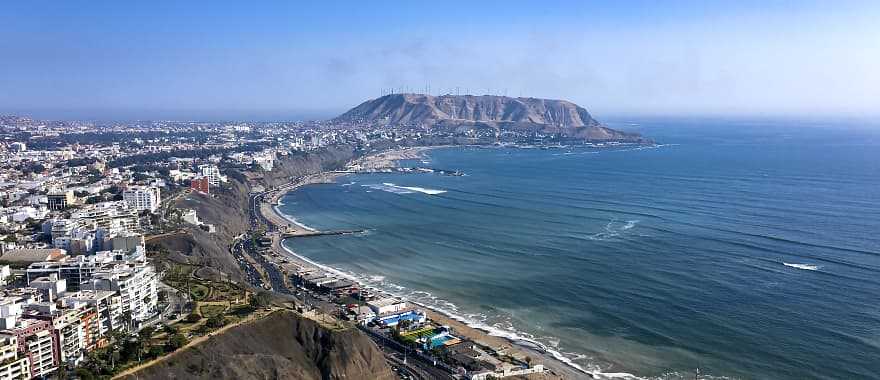
{"label": "bare brown eroded cliff in the foreground below the green park", "polygon": [[126,379],[395,379],[357,329],[327,330],[290,311],[226,330]]}

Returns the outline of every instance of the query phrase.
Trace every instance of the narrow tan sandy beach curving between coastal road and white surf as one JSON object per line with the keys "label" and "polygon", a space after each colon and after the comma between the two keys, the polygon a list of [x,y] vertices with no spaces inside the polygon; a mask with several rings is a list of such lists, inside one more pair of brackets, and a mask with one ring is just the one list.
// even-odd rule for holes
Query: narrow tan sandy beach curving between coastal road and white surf
{"label": "narrow tan sandy beach curving between coastal road and white surf", "polygon": [[[353,161],[351,164],[349,164],[349,168],[361,171],[393,168],[397,166],[398,160],[420,159],[423,157],[424,152],[431,148],[432,147],[414,147],[386,151]],[[279,231],[284,232],[285,236],[307,235],[310,233],[315,233],[316,231],[314,229],[311,229],[308,226],[296,222],[294,216],[282,215],[276,207],[278,200],[284,194],[290,191],[294,191],[301,186],[315,183],[332,182],[336,178],[345,174],[346,173],[319,173],[312,176],[307,176],[295,183],[288,184],[287,186],[282,186],[278,190],[273,191],[271,194],[267,194],[269,196],[265,197],[264,201],[260,205],[261,211],[268,220],[270,220],[272,223],[275,223],[276,226],[279,227]],[[294,252],[289,251],[286,247],[283,246],[282,238],[280,235],[276,234],[275,236],[273,236],[273,240],[273,248],[279,254],[290,257],[297,264],[304,267],[315,267],[315,265],[317,264],[297,255]],[[435,321],[438,324],[452,327],[455,332],[462,337],[466,337],[479,344],[492,347],[499,353],[511,355],[518,359],[525,359],[526,357],[529,357],[531,358],[533,364],[543,364],[546,368],[549,369],[549,371],[543,375],[531,375],[529,377],[530,379],[594,378],[594,376],[564,363],[563,361],[555,358],[549,352],[546,352],[535,345],[531,345],[528,342],[515,341],[505,337],[490,335],[487,331],[470,327],[466,323],[453,319],[438,310],[433,310],[425,305],[420,306],[425,309],[425,311],[428,313],[428,317],[431,320]]]}

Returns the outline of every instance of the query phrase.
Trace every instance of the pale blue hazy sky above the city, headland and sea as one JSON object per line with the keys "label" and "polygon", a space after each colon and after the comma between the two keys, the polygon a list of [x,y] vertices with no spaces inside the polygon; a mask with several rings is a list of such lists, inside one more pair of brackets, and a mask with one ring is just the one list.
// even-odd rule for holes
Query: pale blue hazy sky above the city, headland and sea
{"label": "pale blue hazy sky above the city, headland and sea", "polygon": [[595,115],[880,113],[880,1],[4,1],[0,113],[330,116],[387,88]]}

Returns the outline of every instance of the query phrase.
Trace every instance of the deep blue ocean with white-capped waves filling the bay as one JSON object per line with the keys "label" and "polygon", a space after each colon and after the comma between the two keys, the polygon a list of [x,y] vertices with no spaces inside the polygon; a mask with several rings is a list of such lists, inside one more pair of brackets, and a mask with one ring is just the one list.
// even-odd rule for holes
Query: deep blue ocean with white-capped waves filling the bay
{"label": "deep blue ocean with white-capped waves filling the bay", "polygon": [[620,119],[661,145],[444,148],[285,196],[316,262],[592,371],[880,378],[880,126]]}

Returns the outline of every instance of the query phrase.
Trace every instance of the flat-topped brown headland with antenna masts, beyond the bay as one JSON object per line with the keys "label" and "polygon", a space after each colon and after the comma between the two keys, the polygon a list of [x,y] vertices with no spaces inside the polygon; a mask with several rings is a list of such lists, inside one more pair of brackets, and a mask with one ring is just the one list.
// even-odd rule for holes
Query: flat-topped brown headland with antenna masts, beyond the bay
{"label": "flat-topped brown headland with antenna masts, beyond the bay", "polygon": [[373,125],[430,126],[542,132],[594,141],[648,142],[638,134],[599,123],[583,107],[565,100],[494,95],[391,94],[361,103],[335,121]]}

